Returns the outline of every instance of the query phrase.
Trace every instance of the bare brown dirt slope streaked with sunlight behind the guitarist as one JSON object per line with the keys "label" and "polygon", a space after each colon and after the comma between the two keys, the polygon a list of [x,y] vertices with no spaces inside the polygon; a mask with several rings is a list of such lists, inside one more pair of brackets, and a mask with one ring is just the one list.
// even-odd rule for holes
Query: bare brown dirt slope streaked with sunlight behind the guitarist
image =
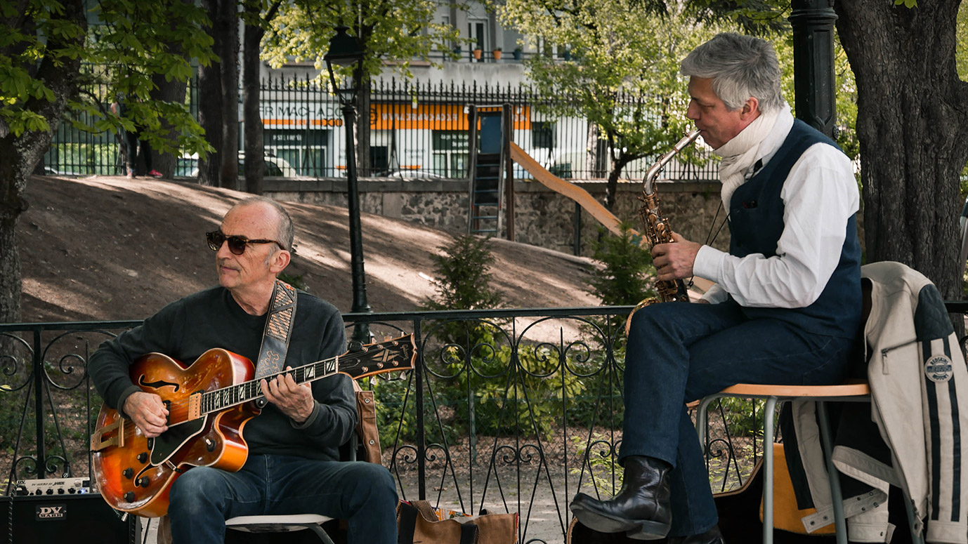
{"label": "bare brown dirt slope streaked with sunlight behind the guitarist", "polygon": [[[204,232],[244,193],[194,183],[122,177],[31,177],[20,217],[21,320],[140,319],[217,282]],[[310,292],[349,312],[348,212],[284,203],[296,226],[287,269]],[[374,312],[414,310],[434,295],[431,256],[450,233],[362,216],[367,295]],[[495,239],[494,285],[508,307],[596,306],[593,263]]]}

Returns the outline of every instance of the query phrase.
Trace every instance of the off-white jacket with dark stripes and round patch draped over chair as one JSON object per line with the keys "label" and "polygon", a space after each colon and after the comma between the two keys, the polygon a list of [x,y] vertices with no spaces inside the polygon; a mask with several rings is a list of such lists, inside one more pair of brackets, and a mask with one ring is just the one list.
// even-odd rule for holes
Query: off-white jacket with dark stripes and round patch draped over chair
{"label": "off-white jacket with dark stripes and round patch draped over chair", "polygon": [[[884,443],[870,443],[869,449],[856,439],[841,443],[854,430],[838,432],[834,465],[873,488],[864,498],[845,500],[845,506],[867,503],[853,508],[853,515],[846,511],[850,539],[890,541],[890,484],[911,498],[926,523],[927,542],[968,544],[968,369],[944,301],[927,278],[898,262],[864,265],[861,275],[871,287],[864,327],[870,420]],[[812,411],[812,403],[795,403],[798,438],[812,436]],[[885,444],[889,453],[875,451]],[[807,480],[825,479],[823,464],[816,463],[819,442],[798,440],[798,449]],[[822,485],[810,485],[811,491],[815,487]],[[812,495],[818,511],[830,507],[829,496]]]}

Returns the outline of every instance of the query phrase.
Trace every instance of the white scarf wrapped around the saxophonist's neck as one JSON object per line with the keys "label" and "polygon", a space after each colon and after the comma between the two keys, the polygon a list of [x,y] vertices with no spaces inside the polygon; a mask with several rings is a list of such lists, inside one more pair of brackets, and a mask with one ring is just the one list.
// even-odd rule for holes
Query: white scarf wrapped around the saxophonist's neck
{"label": "white scarf wrapped around the saxophonist's neck", "polygon": [[726,213],[729,213],[733,192],[746,182],[750,166],[775,151],[792,128],[790,105],[783,103],[770,113],[760,113],[740,134],[713,150],[723,159],[719,163],[719,179],[723,184],[721,196]]}

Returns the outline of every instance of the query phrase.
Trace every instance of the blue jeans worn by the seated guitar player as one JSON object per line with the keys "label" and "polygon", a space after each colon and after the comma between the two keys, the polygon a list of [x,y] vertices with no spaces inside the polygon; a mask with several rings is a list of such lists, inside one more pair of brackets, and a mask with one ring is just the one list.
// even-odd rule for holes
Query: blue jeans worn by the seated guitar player
{"label": "blue jeans worn by the seated guitar player", "polygon": [[397,488],[374,463],[250,455],[238,472],[196,467],[169,496],[173,544],[225,541],[226,520],[263,514],[320,514],[349,524],[349,544],[396,544]]}

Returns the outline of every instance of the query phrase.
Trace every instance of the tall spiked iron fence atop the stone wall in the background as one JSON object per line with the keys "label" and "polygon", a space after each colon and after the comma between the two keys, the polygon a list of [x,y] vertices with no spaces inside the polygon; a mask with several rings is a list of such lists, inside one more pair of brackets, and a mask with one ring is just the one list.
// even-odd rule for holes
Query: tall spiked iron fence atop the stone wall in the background
{"label": "tall spiked iron fence atop the stone wall in the background", "polygon": [[[98,96],[92,90],[92,96]],[[103,92],[103,90],[101,91]],[[197,84],[189,85],[188,103],[197,115]],[[361,162],[364,177],[390,179],[467,178],[469,175],[469,108],[487,112],[513,108],[513,140],[542,166],[562,178],[601,179],[608,175],[609,149],[587,119],[544,113],[543,106],[565,101],[529,87],[398,81],[380,79],[369,89],[369,158]],[[106,102],[110,100],[105,98]],[[660,105],[628,98],[620,107],[638,110],[636,118],[659,119]],[[106,107],[103,108],[106,111]],[[309,76],[275,77],[261,82],[261,122],[268,176],[339,178],[346,175],[343,116],[335,97]],[[87,112],[80,120],[93,125]],[[657,121],[656,121],[657,122]],[[242,134],[240,129],[239,134]],[[90,134],[72,123],[61,123],[45,154],[51,173],[123,174],[121,137]],[[715,179],[708,150],[697,150],[699,164],[673,161],[666,168],[671,180]],[[634,161],[623,176],[641,180],[654,157]],[[197,156],[177,159],[176,176],[195,176]],[[241,164],[241,161],[240,161]],[[366,166],[368,165],[368,166]],[[516,168],[516,179],[529,179]]]}

